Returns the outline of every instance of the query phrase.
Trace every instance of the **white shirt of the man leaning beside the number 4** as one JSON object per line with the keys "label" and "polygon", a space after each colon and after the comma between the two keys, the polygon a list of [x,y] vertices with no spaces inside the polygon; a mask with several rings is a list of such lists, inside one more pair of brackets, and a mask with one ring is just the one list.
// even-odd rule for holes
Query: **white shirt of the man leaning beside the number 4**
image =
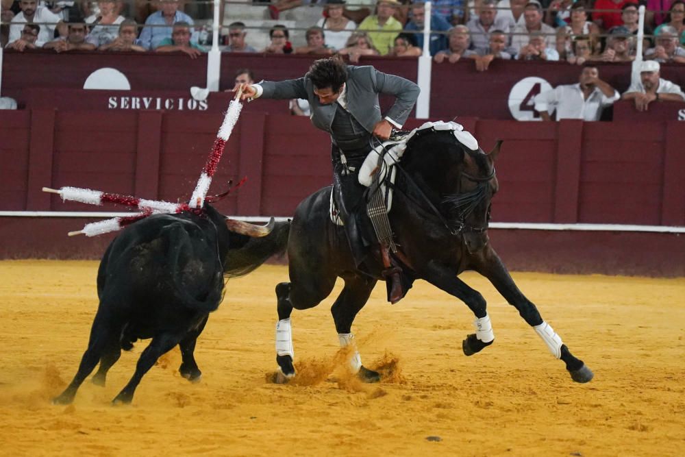
{"label": "white shirt of the man leaning beside the number 4", "polygon": [[536,95],[535,110],[547,111],[551,114],[550,108],[556,108],[557,121],[561,119],[599,121],[603,108],[610,106],[618,99],[619,92],[616,90],[614,90],[614,95],[607,97],[598,87],[595,87],[595,90],[585,99],[580,83],[566,84]]}

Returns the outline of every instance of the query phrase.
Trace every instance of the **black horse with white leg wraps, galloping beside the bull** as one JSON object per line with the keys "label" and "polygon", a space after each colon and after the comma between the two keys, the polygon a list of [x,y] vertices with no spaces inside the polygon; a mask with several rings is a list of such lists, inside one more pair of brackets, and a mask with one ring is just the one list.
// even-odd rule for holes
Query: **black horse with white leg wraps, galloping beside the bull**
{"label": "black horse with white leg wraps, galloping beside the bull", "polygon": [[[495,338],[480,293],[457,276],[474,270],[493,283],[543,338],[551,353],[566,363],[576,382],[588,382],[593,373],[575,358],[561,338],[540,317],[536,306],[519,291],[506,267],[488,243],[490,200],[497,193],[495,159],[498,142],[489,154],[462,145],[451,131],[419,130],[408,142],[398,165],[394,202],[388,216],[399,245],[395,261],[403,266],[407,286],[422,279],[464,301],[475,314],[475,334],[466,336],[462,349],[471,356]],[[295,375],[292,365],[292,308],[318,305],[333,290],[338,277],[345,287],[331,312],[340,345],[353,345],[352,321],[371,295],[384,268],[380,260],[365,262],[360,271],[351,256],[343,227],[329,217],[331,187],[304,199],[292,219],[288,238],[290,282],[276,286],[278,318],[277,362],[286,378]],[[364,368],[357,351],[350,361],[366,381],[379,379]]]}

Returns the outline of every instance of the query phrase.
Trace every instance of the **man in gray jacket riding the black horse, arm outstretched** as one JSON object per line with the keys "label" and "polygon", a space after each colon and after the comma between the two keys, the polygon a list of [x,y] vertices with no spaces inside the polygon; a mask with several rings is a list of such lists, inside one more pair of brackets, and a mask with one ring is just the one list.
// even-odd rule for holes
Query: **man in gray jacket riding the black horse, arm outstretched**
{"label": "man in gray jacket riding the black horse, arm outstretched", "polygon": [[[332,141],[332,162],[334,170],[334,198],[343,219],[345,233],[357,267],[369,254],[364,243],[364,219],[360,214],[362,197],[366,187],[358,182],[357,171],[373,149],[373,142],[387,140],[393,127],[401,129],[407,120],[416,98],[419,86],[395,75],[388,75],[373,66],[351,66],[340,58],[316,60],[304,77],[280,82],[262,81],[258,84],[237,84],[234,90],[242,88],[242,99],[306,99],[312,112],[315,127],[328,132]],[[381,114],[379,94],[395,96],[395,103]],[[387,215],[382,217],[387,223]],[[378,222],[373,212],[371,221],[378,234]],[[368,219],[366,219],[368,221]],[[381,258],[384,264],[383,276],[388,284],[388,299],[395,303],[404,296],[399,273],[401,270],[390,261],[389,248],[394,248],[390,232],[390,243],[379,240]],[[375,244],[375,243],[373,243]]]}

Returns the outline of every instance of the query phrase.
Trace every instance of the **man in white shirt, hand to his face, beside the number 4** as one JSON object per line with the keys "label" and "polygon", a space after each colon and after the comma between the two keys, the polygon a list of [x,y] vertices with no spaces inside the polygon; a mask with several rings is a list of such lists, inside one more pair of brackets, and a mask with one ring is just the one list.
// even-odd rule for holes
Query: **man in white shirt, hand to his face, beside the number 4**
{"label": "man in white shirt, hand to his face, beside the number 4", "polygon": [[596,66],[586,66],[580,73],[578,84],[557,86],[535,97],[535,110],[543,121],[551,121],[549,116],[556,108],[556,119],[582,119],[599,121],[603,108],[619,99],[619,92],[608,83],[599,79]]}

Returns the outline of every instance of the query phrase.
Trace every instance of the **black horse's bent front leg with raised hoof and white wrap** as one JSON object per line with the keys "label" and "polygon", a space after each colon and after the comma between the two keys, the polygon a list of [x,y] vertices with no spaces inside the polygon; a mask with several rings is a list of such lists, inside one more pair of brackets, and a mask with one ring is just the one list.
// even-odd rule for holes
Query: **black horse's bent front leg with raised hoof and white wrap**
{"label": "black horse's bent front leg with raised hoof and white wrap", "polygon": [[495,341],[493,324],[488,316],[486,301],[478,291],[460,280],[456,271],[440,262],[429,262],[423,276],[427,282],[463,301],[475,314],[476,319],[473,321],[475,333],[467,335],[462,341],[462,350],[466,356],[473,356],[484,347],[493,344]]}

